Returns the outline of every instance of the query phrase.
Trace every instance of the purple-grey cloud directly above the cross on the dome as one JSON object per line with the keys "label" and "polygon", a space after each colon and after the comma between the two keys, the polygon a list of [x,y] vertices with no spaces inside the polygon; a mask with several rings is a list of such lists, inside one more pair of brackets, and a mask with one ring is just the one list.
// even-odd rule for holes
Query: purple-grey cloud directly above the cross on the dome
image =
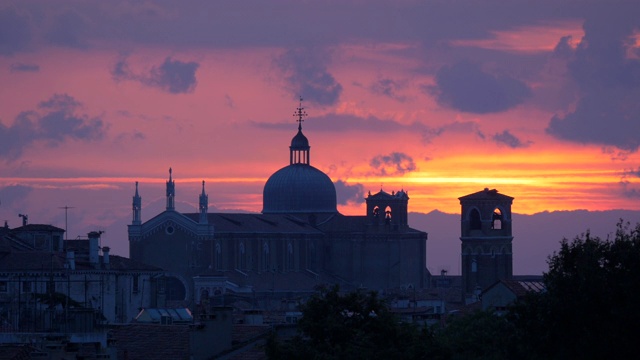
{"label": "purple-grey cloud directly above the cross on the dome", "polygon": [[333,105],[340,99],[342,85],[327,70],[329,52],[321,48],[294,48],[276,60],[285,74],[286,86],[295,96],[317,105]]}

